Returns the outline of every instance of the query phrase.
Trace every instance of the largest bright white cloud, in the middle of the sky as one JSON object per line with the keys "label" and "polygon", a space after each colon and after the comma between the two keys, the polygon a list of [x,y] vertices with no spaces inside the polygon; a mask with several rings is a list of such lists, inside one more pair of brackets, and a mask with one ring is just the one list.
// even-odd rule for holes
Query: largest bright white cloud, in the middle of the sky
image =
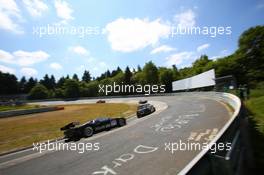
{"label": "largest bright white cloud, in the middle of the sky", "polygon": [[119,18],[105,27],[108,41],[113,50],[132,52],[155,45],[160,38],[168,37],[170,26],[160,19]]}

